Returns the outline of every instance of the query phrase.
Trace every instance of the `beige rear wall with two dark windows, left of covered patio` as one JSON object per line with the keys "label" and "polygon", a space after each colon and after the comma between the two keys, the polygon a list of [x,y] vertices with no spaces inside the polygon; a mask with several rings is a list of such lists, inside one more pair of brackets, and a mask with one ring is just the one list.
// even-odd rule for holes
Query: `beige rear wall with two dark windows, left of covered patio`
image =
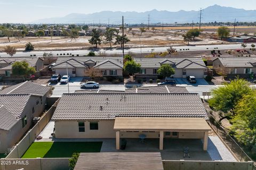
{"label": "beige rear wall with two dark windows, left of covered patio", "polygon": [[[78,132],[78,122],[85,123],[85,132]],[[99,129],[90,130],[90,122],[99,122]],[[114,122],[114,120],[57,121],[55,122],[55,136],[57,138],[115,138]]]}

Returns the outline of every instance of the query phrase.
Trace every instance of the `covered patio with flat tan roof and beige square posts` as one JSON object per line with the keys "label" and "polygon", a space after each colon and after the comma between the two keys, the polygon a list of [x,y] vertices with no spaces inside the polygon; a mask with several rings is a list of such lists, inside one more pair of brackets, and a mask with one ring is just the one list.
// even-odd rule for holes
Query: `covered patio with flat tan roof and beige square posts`
{"label": "covered patio with flat tan roof and beige square posts", "polygon": [[[188,117],[116,117],[116,149],[120,149],[120,133],[154,133],[159,138],[159,150],[164,149],[164,138],[202,139],[203,150],[207,150],[208,132],[211,127],[204,118]],[[167,133],[166,133],[167,132]],[[182,134],[182,135],[181,135]],[[155,137],[154,137],[155,138]],[[175,147],[175,146],[173,146]]]}

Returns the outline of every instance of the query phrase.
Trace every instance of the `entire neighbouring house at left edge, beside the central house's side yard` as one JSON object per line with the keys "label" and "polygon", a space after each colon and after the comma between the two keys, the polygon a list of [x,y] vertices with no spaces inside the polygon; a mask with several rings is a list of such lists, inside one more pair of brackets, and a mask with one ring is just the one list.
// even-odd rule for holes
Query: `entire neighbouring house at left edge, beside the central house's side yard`
{"label": "entire neighbouring house at left edge, beside the central house's side yard", "polygon": [[10,152],[41,116],[50,87],[23,82],[0,91],[0,153]]}

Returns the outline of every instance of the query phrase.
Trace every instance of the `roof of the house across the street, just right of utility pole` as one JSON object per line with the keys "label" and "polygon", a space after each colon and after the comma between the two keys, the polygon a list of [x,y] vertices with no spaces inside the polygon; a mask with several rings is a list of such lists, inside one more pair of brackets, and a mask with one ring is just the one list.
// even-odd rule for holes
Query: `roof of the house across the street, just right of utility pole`
{"label": "roof of the house across the street, just right of utility pole", "polygon": [[173,64],[174,68],[189,68],[189,69],[207,68],[201,57],[134,58],[134,60],[137,63],[141,64],[141,68],[159,68],[161,64],[164,64],[164,63]]}

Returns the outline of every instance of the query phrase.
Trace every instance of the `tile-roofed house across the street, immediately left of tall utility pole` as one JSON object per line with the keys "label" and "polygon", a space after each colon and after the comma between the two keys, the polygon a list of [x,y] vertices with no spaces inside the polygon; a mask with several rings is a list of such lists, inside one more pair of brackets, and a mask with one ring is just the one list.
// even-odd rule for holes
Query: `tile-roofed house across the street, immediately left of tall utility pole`
{"label": "tile-roofed house across the street, immediately left of tall utility pole", "polygon": [[122,57],[60,57],[52,67],[55,73],[70,77],[86,76],[86,70],[97,68],[102,71],[103,76],[122,76],[123,58]]}

